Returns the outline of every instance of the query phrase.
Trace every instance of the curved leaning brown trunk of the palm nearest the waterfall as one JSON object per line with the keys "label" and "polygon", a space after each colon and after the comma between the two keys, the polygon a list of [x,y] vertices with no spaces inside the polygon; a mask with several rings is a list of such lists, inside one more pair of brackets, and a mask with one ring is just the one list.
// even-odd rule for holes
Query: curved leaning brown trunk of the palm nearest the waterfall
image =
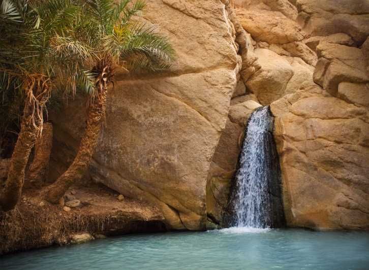
{"label": "curved leaning brown trunk of the palm nearest the waterfall", "polygon": [[99,61],[95,70],[99,74],[96,80],[98,93],[89,106],[87,125],[77,155],[68,170],[46,189],[45,198],[53,204],[58,203],[71,185],[82,179],[98,143],[105,118],[108,84],[111,82],[114,71],[111,67],[111,61],[106,58]]}

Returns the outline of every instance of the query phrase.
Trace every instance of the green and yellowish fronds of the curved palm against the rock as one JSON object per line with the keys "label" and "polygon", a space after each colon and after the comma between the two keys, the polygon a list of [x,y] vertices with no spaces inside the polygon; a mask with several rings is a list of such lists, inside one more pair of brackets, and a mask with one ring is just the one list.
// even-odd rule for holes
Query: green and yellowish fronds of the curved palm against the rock
{"label": "green and yellowish fronds of the curved palm against the rock", "polygon": [[99,59],[111,58],[130,72],[163,71],[169,68],[174,50],[155,28],[133,20],[145,2],[87,0],[83,5],[80,38],[94,47]]}

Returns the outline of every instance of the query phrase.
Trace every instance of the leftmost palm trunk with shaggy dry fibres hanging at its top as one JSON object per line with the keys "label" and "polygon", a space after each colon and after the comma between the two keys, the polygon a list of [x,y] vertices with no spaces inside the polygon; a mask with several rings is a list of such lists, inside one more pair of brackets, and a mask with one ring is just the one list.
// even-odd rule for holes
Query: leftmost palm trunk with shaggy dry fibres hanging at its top
{"label": "leftmost palm trunk with shaggy dry fibres hanging at its top", "polygon": [[21,128],[11,157],[8,178],[0,194],[0,209],[3,211],[12,210],[22,195],[28,157],[42,131],[42,113],[50,94],[48,81],[45,76],[31,75],[24,82],[27,97]]}

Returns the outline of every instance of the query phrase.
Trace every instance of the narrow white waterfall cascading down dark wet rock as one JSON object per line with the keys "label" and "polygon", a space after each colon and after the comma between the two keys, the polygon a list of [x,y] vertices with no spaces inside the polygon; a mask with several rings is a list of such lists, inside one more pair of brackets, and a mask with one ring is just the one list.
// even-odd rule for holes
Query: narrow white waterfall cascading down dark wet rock
{"label": "narrow white waterfall cascading down dark wet rock", "polygon": [[232,183],[226,223],[235,227],[281,227],[281,173],[269,106],[256,109],[245,129]]}

